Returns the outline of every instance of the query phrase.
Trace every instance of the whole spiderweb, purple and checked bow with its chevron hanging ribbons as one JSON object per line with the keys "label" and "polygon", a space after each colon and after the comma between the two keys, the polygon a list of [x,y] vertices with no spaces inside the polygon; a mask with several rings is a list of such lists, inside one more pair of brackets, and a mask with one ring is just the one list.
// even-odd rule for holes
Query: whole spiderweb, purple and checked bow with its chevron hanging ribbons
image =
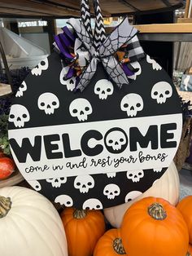
{"label": "whole spiderweb, purple and checked bow with its chevron hanging ribbons", "polygon": [[108,76],[118,87],[129,84],[133,68],[129,62],[144,56],[137,39],[137,29],[125,18],[108,36],[105,34],[103,17],[98,0],[94,1],[96,15],[94,36],[90,26],[89,1],[81,1],[81,20],[70,19],[75,35],[67,28],[55,37],[55,42],[66,65],[65,78],[76,75],[76,90],[84,90],[102,62]]}

